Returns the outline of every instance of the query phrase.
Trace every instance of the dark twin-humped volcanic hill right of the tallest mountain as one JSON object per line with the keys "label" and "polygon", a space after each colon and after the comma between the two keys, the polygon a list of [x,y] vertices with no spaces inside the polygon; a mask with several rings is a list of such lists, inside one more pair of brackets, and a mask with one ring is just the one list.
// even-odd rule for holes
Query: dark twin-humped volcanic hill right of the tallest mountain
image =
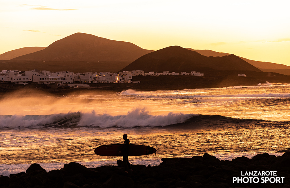
{"label": "dark twin-humped volcanic hill right of the tallest mountain", "polygon": [[121,71],[132,70],[143,70],[146,73],[149,71],[191,72],[204,70],[262,72],[233,54],[223,57],[207,57],[180,46],[153,51],[133,61]]}

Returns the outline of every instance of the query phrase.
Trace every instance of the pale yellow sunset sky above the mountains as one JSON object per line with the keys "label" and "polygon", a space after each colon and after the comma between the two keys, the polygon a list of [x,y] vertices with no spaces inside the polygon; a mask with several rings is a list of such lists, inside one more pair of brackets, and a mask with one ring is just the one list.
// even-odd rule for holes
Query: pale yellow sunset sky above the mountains
{"label": "pale yellow sunset sky above the mountains", "polygon": [[0,54],[82,32],[150,50],[178,45],[290,66],[289,7],[289,0],[1,0]]}

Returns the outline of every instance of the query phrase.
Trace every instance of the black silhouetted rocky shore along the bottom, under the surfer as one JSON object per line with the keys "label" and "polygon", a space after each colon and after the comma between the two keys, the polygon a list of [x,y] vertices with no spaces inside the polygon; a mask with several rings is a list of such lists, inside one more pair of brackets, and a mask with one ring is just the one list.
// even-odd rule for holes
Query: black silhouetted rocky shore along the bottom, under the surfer
{"label": "black silhouetted rocky shore along the bottom, under the surfer", "polygon": [[[278,157],[268,153],[251,159],[242,156],[232,161],[220,160],[206,153],[192,158],[162,158],[162,161],[152,167],[131,165],[133,172],[129,173],[124,172],[120,160],[118,166],[97,168],[86,168],[72,162],[61,170],[49,172],[39,164],[32,164],[26,172],[0,176],[0,188],[290,187],[289,152]],[[263,182],[265,180],[267,183]]]}

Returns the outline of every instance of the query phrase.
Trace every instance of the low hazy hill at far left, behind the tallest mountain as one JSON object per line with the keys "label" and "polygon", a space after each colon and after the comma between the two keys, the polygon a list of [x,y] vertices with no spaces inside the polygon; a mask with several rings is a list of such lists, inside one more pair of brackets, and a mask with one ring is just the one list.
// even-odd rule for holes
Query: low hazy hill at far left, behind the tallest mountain
{"label": "low hazy hill at far left, behind the tallest mountain", "polygon": [[23,56],[23,55],[30,54],[39,50],[43,50],[44,48],[45,47],[24,47],[24,48],[7,51],[0,55],[0,60],[10,60],[18,56]]}

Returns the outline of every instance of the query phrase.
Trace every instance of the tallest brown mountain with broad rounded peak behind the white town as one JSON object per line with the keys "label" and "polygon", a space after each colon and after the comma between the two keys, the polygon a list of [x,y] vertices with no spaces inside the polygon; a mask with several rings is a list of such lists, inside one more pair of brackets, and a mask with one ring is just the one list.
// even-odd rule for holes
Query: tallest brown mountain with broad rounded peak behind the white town
{"label": "tallest brown mountain with broad rounded peak behind the white town", "polygon": [[123,61],[132,62],[152,52],[129,42],[75,33],[57,40],[45,49],[13,58],[13,61]]}

